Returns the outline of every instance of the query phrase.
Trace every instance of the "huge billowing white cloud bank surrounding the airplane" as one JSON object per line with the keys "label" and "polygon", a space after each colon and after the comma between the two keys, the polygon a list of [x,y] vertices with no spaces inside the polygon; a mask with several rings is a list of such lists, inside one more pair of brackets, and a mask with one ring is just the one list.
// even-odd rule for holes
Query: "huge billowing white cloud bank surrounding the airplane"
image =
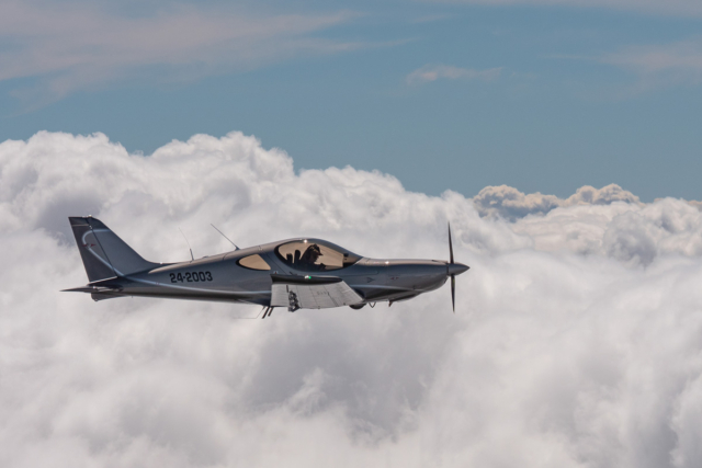
{"label": "huge billowing white cloud bank surrounding the airplane", "polygon": [[[524,216],[498,206],[518,192],[488,192],[514,216],[380,172],[296,172],[240,133],[146,157],[101,134],[0,144],[0,465],[700,466],[702,213],[609,186],[522,194]],[[240,246],[445,259],[451,220],[472,270],[455,316],[445,287],[264,321],[92,303],[58,292],[86,282],[66,220],[84,214],[154,261],[189,256],[178,227],[196,255],[230,248],[210,222]]]}

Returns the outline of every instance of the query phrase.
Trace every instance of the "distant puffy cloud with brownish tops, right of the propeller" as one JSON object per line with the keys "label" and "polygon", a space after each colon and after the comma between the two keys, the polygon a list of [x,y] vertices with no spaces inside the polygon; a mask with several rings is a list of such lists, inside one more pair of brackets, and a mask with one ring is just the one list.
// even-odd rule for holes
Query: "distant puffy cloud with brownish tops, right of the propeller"
{"label": "distant puffy cloud with brownish tops, right of the propeller", "polygon": [[580,187],[565,199],[488,186],[473,203],[482,217],[512,221],[512,231],[528,235],[540,251],[602,255],[644,266],[660,255],[702,255],[699,202],[660,198],[644,204],[610,184]]}

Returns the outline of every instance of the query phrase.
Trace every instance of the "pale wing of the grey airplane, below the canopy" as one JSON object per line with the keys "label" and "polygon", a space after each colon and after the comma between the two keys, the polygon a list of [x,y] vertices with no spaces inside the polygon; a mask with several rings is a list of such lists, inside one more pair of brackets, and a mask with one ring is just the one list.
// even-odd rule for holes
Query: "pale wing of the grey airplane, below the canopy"
{"label": "pale wing of the grey airplane, below the canopy", "polygon": [[363,298],[336,276],[271,275],[272,307],[297,309],[328,309],[363,303]]}

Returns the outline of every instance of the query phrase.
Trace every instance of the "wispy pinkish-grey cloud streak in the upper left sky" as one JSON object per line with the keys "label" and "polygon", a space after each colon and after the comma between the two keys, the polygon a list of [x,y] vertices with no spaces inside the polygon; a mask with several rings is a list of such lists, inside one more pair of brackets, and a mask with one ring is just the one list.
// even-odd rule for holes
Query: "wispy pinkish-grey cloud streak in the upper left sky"
{"label": "wispy pinkish-grey cloud streak in the upper left sky", "polygon": [[37,87],[14,93],[41,100],[134,78],[179,82],[249,70],[360,47],[315,36],[352,16],[193,5],[125,15],[76,1],[2,2],[0,39],[8,46],[0,50],[0,80],[34,78]]}

